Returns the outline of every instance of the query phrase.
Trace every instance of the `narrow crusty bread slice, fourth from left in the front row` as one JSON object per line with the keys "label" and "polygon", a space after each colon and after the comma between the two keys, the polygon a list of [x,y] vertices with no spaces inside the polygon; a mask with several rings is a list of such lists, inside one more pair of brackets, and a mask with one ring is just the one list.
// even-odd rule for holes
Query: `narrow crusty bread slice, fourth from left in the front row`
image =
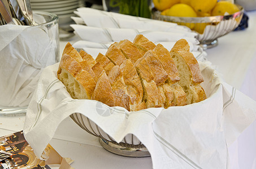
{"label": "narrow crusty bread slice, fourth from left in the front row", "polygon": [[142,102],[143,88],[140,77],[138,77],[132,61],[127,59],[122,65],[120,65],[120,69],[123,74],[125,86],[127,88],[127,94],[130,97],[130,110],[138,111],[141,109],[146,109],[146,104]]}

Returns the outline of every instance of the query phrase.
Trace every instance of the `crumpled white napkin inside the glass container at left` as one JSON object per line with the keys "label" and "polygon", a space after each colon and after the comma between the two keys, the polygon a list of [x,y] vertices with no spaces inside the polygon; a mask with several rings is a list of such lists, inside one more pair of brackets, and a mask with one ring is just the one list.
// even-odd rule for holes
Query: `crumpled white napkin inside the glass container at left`
{"label": "crumpled white napkin inside the glass container at left", "polygon": [[31,26],[2,25],[0,38],[0,106],[28,106],[41,69],[57,63],[57,44]]}

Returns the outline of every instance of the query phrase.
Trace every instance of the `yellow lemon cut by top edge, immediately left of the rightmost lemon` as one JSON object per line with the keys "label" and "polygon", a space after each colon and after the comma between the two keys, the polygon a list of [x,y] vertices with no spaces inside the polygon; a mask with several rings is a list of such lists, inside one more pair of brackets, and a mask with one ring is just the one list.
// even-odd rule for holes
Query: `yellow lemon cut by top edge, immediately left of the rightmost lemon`
{"label": "yellow lemon cut by top edge, immediately left of the rightmost lemon", "polygon": [[196,12],[210,12],[216,3],[217,0],[191,0],[190,6],[192,6]]}

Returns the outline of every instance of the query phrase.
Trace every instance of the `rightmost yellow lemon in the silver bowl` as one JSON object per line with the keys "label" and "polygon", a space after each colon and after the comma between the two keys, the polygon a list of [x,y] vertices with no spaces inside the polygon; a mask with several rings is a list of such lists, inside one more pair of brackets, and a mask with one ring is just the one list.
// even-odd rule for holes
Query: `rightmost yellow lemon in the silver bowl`
{"label": "rightmost yellow lemon in the silver bowl", "polygon": [[235,12],[238,12],[239,8],[228,1],[220,1],[216,4],[216,6],[212,9],[211,15],[216,16],[216,15],[225,15],[227,12],[228,14],[234,14]]}

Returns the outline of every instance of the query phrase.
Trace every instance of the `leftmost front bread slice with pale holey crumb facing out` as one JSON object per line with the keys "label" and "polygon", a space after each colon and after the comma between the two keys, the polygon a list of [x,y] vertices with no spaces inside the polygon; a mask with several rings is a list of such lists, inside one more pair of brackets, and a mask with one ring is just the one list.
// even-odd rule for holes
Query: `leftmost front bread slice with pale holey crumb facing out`
{"label": "leftmost front bread slice with pale holey crumb facing out", "polygon": [[73,99],[91,99],[96,82],[73,57],[62,56],[57,75]]}

